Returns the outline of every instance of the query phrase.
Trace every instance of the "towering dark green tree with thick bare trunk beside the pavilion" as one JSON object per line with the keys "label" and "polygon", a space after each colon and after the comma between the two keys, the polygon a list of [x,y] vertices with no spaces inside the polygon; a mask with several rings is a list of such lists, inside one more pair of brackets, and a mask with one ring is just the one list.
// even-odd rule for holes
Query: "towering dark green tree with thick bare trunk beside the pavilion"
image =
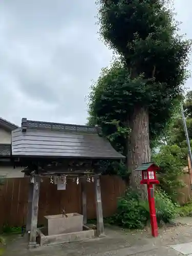
{"label": "towering dark green tree with thick bare trunk beside the pavilion", "polygon": [[97,4],[101,37],[120,61],[104,69],[94,84],[89,121],[101,124],[107,135],[115,134],[137,187],[135,167],[150,161],[150,137],[162,133],[182,94],[190,42],[177,34],[174,15],[163,0]]}

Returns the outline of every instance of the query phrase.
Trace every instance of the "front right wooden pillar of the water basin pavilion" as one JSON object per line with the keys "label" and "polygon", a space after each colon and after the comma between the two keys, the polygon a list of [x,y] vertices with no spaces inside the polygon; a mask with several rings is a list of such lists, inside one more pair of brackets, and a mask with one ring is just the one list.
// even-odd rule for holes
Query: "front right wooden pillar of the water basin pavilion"
{"label": "front right wooden pillar of the water basin pavilion", "polygon": [[96,210],[97,210],[97,236],[104,234],[103,226],[103,211],[102,211],[102,200],[101,200],[101,185],[100,176],[95,176],[95,197],[96,197]]}

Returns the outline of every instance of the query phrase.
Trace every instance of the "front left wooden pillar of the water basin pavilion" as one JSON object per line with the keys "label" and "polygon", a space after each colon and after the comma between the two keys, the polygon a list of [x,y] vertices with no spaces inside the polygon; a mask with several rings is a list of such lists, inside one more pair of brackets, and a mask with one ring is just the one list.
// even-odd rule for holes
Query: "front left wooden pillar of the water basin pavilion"
{"label": "front left wooden pillar of the water basin pavilion", "polygon": [[31,206],[31,228],[30,228],[29,245],[35,245],[36,244],[39,188],[40,188],[40,177],[39,176],[34,176],[32,206]]}

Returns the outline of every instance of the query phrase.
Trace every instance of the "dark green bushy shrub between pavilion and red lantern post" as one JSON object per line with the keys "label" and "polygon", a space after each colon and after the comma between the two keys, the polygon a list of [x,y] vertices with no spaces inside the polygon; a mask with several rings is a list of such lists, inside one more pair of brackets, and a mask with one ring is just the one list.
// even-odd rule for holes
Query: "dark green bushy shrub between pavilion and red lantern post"
{"label": "dark green bushy shrub between pavilion and red lantern post", "polygon": [[119,198],[117,213],[110,223],[126,228],[143,228],[146,222],[145,212],[139,204],[139,196],[134,191],[127,191],[124,197]]}

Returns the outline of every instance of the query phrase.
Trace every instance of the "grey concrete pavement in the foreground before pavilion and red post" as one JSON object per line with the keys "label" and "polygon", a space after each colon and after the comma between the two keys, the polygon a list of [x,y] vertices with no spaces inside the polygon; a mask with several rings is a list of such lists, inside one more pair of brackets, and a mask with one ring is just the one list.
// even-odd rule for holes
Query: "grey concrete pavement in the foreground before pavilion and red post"
{"label": "grey concrete pavement in the foreground before pavilion and red post", "polygon": [[106,227],[104,238],[62,245],[28,249],[20,236],[7,242],[5,256],[192,256],[192,218],[180,219],[183,225],[164,227],[159,237],[152,238],[150,230],[124,230]]}

